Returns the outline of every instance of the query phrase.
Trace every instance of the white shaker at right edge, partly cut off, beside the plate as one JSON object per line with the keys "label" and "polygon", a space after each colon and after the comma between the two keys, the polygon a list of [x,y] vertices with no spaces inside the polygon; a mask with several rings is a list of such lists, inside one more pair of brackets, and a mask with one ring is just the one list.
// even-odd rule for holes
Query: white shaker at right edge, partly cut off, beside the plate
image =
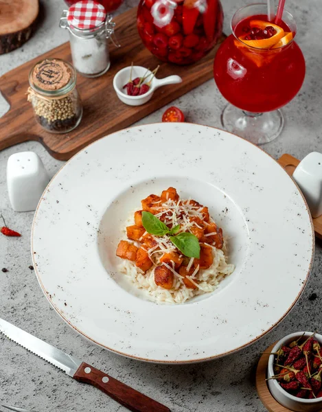
{"label": "white shaker at right edge, partly cut off, beside the plate", "polygon": [[322,214],[322,153],[309,153],[299,163],[293,179],[308,202],[312,218]]}

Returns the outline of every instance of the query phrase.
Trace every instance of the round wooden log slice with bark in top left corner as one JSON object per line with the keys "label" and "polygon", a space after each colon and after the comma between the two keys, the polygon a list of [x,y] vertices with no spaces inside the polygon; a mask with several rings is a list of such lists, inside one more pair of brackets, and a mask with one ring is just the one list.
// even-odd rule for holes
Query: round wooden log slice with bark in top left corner
{"label": "round wooden log slice with bark in top left corner", "polygon": [[0,0],[0,54],[29,40],[39,12],[38,0]]}

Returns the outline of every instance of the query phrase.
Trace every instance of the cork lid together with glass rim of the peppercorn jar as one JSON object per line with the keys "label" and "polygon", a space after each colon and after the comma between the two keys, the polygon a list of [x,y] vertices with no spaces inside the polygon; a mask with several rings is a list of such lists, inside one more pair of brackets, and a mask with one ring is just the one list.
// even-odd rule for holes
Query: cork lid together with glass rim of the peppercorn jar
{"label": "cork lid together with glass rim of the peppercorn jar", "polygon": [[48,98],[70,93],[76,86],[76,70],[60,58],[46,58],[36,63],[29,74],[30,87]]}

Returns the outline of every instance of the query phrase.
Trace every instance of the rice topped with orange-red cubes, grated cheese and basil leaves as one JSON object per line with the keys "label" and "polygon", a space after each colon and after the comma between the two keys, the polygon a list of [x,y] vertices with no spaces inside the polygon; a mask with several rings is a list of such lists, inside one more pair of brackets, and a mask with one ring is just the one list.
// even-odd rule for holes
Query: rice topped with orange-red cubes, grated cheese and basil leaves
{"label": "rice topped with orange-red cubes, grated cheese and basil leaves", "polygon": [[[157,303],[183,304],[213,292],[235,266],[208,208],[180,199],[174,187],[151,194],[130,215],[119,242],[118,269]],[[132,225],[131,225],[132,224]]]}

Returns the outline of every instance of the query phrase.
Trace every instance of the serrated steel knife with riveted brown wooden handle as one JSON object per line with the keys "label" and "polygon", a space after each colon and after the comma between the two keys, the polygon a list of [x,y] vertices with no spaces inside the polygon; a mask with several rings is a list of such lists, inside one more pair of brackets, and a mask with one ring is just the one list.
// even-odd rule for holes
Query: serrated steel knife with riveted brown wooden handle
{"label": "serrated steel knife with riveted brown wooden handle", "polygon": [[95,367],[49,345],[0,318],[0,332],[33,354],[62,369],[79,382],[89,383],[133,412],[171,412],[169,408]]}

